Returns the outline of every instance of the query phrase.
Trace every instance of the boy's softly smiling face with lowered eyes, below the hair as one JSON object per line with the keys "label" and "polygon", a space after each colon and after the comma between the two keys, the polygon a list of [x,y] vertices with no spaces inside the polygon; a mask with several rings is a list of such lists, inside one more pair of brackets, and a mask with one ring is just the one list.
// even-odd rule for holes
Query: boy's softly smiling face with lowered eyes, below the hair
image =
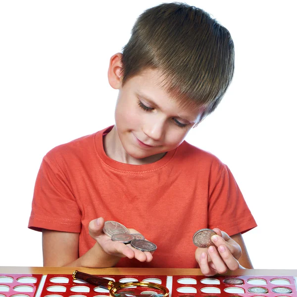
{"label": "boy's softly smiling face with lowered eyes, below the hair", "polygon": [[162,77],[156,70],[148,69],[122,86],[114,82],[116,71],[110,68],[112,62],[109,82],[119,90],[115,108],[117,134],[132,158],[148,158],[177,148],[201,120],[203,109],[180,107],[161,87]]}

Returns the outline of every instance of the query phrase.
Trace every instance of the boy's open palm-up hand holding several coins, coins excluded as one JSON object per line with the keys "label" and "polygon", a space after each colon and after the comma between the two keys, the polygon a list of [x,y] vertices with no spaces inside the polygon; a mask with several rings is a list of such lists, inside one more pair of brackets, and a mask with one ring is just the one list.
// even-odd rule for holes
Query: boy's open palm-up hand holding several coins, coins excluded
{"label": "boy's open palm-up hand holding several coins, coins excluded", "polygon": [[[89,223],[89,233],[94,238],[103,251],[109,255],[116,257],[128,257],[129,259],[136,258],[141,262],[150,262],[152,253],[149,251],[141,251],[132,247],[130,244],[125,245],[118,241],[112,241],[103,231],[104,219],[98,218]],[[129,228],[128,228],[129,229]],[[130,233],[139,233],[134,229],[129,229]]]}

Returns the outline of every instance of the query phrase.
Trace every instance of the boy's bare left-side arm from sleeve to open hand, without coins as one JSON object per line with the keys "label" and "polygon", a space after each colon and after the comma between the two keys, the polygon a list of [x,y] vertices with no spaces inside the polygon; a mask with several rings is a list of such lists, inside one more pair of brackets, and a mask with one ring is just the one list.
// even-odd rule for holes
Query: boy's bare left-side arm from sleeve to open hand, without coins
{"label": "boy's bare left-side arm from sleeve to open hand, without coins", "polygon": [[[136,258],[141,262],[152,260],[150,252],[112,241],[102,232],[104,220],[93,220],[89,224],[89,233],[96,240],[95,245],[79,257],[79,233],[60,232],[43,229],[44,266],[71,266],[106,268],[114,266],[121,257]],[[131,233],[138,233],[129,229]]]}

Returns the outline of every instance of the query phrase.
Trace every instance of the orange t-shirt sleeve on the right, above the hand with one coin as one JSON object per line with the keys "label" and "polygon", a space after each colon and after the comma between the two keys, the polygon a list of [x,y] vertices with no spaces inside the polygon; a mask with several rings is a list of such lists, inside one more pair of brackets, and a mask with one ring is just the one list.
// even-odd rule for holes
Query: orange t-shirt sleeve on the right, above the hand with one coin
{"label": "orange t-shirt sleeve on the right, above the hand with one coin", "polygon": [[208,228],[219,228],[232,236],[256,226],[230,169],[223,164],[216,182],[209,189]]}

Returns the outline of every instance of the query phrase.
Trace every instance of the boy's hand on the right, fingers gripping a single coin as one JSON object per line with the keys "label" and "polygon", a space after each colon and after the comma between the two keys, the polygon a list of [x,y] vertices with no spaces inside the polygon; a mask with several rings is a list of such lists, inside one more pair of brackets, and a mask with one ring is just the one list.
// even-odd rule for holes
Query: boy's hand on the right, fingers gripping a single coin
{"label": "boy's hand on the right, fingers gripping a single coin", "polygon": [[201,272],[206,276],[212,276],[226,273],[229,269],[243,268],[238,262],[242,255],[240,245],[224,231],[217,228],[213,231],[217,234],[211,237],[215,246],[198,247],[195,252]]}

